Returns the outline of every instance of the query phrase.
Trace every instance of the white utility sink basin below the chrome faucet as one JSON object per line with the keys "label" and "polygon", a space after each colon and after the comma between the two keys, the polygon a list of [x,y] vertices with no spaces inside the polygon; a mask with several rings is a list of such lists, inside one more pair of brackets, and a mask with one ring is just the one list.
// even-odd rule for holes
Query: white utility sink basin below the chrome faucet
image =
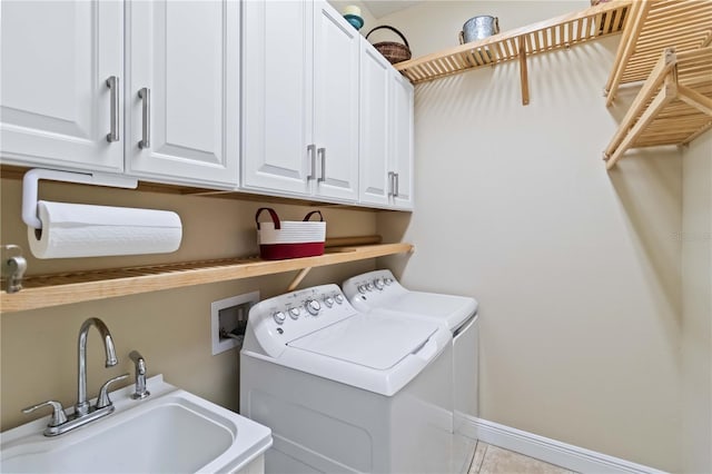
{"label": "white utility sink basin below the chrome faucet", "polygon": [[271,445],[269,428],[162,382],[113,392],[116,412],[46,437],[48,417],[2,433],[0,471],[8,473],[235,472]]}

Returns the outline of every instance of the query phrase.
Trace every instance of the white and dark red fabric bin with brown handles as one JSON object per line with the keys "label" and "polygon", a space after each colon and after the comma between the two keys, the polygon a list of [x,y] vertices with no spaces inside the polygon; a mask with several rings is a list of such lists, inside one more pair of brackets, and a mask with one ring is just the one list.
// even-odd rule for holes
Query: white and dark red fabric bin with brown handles
{"label": "white and dark red fabric bin with brown handles", "polygon": [[[269,214],[271,223],[259,221],[259,215],[265,210]],[[309,220],[313,216],[319,216],[319,220]],[[275,209],[260,207],[255,214],[255,223],[259,256],[265,260],[324,255],[326,223],[319,210],[308,213],[301,221],[293,221],[279,220]]]}

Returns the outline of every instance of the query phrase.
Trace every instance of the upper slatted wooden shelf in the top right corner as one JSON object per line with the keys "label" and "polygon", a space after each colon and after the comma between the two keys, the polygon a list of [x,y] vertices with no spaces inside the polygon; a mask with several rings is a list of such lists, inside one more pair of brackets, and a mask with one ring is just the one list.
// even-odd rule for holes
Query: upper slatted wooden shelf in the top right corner
{"label": "upper slatted wooden shelf in the top right corner", "polygon": [[607,105],[622,83],[647,79],[664,49],[674,47],[680,55],[711,43],[712,1],[635,1],[605,86]]}

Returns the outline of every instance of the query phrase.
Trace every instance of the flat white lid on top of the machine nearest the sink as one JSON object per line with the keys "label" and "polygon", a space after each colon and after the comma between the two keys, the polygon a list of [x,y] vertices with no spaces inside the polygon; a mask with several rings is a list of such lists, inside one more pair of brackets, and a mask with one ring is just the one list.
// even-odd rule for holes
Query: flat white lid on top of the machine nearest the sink
{"label": "flat white lid on top of the machine nearest the sink", "polygon": [[417,352],[436,330],[437,325],[429,322],[359,313],[290,340],[287,345],[324,357],[386,371],[408,354]]}

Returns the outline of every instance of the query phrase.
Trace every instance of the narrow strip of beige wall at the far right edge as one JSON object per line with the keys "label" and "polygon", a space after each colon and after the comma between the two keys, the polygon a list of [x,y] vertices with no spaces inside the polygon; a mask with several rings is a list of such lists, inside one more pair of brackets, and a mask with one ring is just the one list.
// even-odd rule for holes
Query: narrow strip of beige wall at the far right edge
{"label": "narrow strip of beige wall at the far right edge", "polygon": [[712,472],[712,132],[683,152],[682,458]]}

